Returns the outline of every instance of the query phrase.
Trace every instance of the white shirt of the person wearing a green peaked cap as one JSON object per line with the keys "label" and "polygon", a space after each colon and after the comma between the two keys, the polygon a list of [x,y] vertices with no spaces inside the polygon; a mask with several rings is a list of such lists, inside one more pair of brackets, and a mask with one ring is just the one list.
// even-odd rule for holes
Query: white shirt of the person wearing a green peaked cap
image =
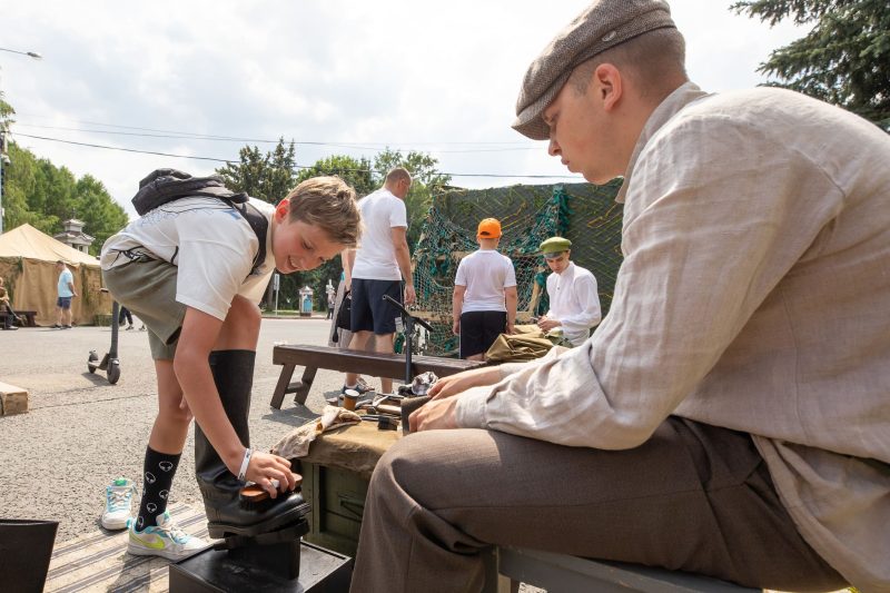
{"label": "white shirt of the person wearing a green peaked cap", "polygon": [[596,278],[589,269],[570,261],[562,274],[554,271],[547,276],[547,317],[562,324],[563,336],[572,346],[581,346],[602,317]]}

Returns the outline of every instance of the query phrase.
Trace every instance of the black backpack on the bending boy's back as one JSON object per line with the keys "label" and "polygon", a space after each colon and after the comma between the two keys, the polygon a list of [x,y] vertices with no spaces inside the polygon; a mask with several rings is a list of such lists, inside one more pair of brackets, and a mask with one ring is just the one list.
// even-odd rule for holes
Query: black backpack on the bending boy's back
{"label": "black backpack on the bending boy's back", "polygon": [[229,204],[247,220],[259,240],[259,249],[250,269],[250,274],[254,274],[266,261],[266,235],[269,230],[269,220],[248,202],[247,194],[231,191],[220,176],[192,177],[176,169],[155,169],[139,181],[139,191],[131,201],[136,213],[144,216],[165,204],[191,197],[220,199]]}

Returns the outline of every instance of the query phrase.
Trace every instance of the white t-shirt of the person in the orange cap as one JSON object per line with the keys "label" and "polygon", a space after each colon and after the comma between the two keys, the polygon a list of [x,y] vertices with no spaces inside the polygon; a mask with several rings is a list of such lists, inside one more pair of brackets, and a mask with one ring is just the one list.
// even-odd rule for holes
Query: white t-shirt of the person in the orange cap
{"label": "white t-shirt of the person in the orange cap", "polygon": [[513,261],[496,249],[478,249],[457,265],[454,284],[466,286],[461,313],[506,312],[504,288],[516,286],[516,270]]}

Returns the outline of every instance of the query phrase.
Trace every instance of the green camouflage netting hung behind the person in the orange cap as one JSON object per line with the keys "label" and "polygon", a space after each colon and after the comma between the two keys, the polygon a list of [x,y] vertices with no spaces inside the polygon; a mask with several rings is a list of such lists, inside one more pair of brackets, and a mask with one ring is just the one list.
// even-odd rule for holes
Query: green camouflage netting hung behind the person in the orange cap
{"label": "green camouflage netting hung behind the person in the orange cap", "polygon": [[454,190],[436,196],[414,251],[415,314],[431,323],[432,335],[418,335],[423,354],[456,356],[452,334],[452,293],[461,258],[478,248],[476,226],[497,218],[500,251],[513,260],[518,288],[517,322],[528,323],[547,310],[544,281],[550,270],[537,246],[554,235],[572,241],[572,260],[593,271],[603,315],[612,303],[621,265],[622,207],[614,201],[619,185],[513,186]]}

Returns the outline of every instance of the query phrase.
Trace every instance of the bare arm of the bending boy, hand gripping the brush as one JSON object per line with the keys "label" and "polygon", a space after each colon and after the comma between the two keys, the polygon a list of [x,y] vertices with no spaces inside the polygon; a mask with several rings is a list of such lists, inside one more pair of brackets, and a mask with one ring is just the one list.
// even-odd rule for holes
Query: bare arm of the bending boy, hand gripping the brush
{"label": "bare arm of the bending boy, hand gripping the brush", "polygon": [[[210,350],[214,348],[221,328],[220,319],[196,308],[187,307],[174,357],[174,372],[182,388],[188,407],[195,415],[195,421],[229,472],[238,475],[246,447],[241,445],[235,428],[226,416],[226,411],[222,409],[219,392],[214,383],[208,363]],[[230,338],[237,340],[238,336],[230,336]],[[277,480],[283,488],[285,485],[288,490],[296,486],[289,467],[290,463],[287,459],[268,453],[255,452],[245,474],[248,480],[256,482],[275,497],[276,491],[270,487],[269,480]]]}

